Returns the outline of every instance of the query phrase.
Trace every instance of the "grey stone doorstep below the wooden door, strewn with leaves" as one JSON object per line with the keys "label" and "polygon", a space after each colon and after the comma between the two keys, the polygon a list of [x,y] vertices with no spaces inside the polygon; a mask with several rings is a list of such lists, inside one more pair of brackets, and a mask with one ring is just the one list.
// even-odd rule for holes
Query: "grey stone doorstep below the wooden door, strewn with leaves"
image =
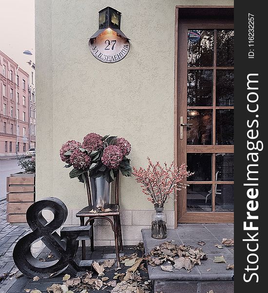
{"label": "grey stone doorstep below the wooden door, strewn with leaves", "polygon": [[[143,229],[142,236],[146,253],[150,253],[162,242],[172,241],[177,245],[202,248],[208,254],[208,260],[201,261],[201,266],[194,266],[191,272],[184,269],[164,272],[160,266],[148,265],[154,292],[206,293],[210,290],[217,293],[233,292],[233,270],[226,270],[228,264],[233,264],[233,246],[224,246],[223,249],[215,247],[215,244],[221,244],[223,238],[233,238],[233,224],[179,224],[177,229],[168,229],[166,239],[153,239],[150,229]],[[204,241],[206,244],[199,246],[198,241]],[[214,256],[221,255],[227,263],[214,263]]]}

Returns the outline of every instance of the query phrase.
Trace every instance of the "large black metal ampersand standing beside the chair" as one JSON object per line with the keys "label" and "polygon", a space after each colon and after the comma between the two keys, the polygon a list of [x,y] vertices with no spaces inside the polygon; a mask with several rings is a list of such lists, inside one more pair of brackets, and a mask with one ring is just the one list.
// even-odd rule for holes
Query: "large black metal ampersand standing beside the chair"
{"label": "large black metal ampersand standing beside the chair", "polygon": [[[54,214],[51,222],[47,222],[42,215],[42,210],[45,209]],[[26,219],[33,231],[19,239],[13,251],[14,262],[20,272],[29,277],[49,278],[63,272],[68,266],[79,271],[77,238],[90,236],[91,230],[88,226],[64,227],[59,236],[56,230],[66,221],[67,215],[66,206],[55,197],[44,198],[29,207]],[[33,256],[31,245],[38,240],[52,251],[56,260],[43,262]]]}

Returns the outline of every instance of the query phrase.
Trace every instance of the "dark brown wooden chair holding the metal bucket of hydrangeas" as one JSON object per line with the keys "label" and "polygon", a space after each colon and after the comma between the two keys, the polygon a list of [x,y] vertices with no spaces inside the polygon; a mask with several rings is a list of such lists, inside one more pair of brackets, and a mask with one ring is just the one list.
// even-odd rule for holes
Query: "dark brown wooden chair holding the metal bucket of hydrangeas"
{"label": "dark brown wooden chair holding the metal bucket of hydrangeas", "polygon": [[[87,176],[86,176],[86,187],[87,187],[89,205],[88,207],[81,209],[76,214],[77,218],[80,218],[80,226],[87,226],[88,224],[90,224],[91,230],[92,230],[92,236],[90,238],[90,246],[91,246],[91,251],[94,251],[93,224],[95,219],[104,219],[110,222],[112,230],[115,234],[115,253],[116,253],[117,266],[119,267],[120,266],[119,251],[123,250],[121,220],[120,220],[120,210],[119,210],[119,193],[118,193],[119,173],[117,174],[115,178],[115,204],[109,204],[109,207],[108,207],[109,209],[111,209],[111,211],[99,212],[99,213],[91,212],[91,210],[94,208],[92,206],[91,191],[89,186],[89,179]],[[85,221],[85,218],[88,218],[88,220]],[[86,259],[86,241],[81,240],[81,245],[82,245],[82,260],[85,260]]]}

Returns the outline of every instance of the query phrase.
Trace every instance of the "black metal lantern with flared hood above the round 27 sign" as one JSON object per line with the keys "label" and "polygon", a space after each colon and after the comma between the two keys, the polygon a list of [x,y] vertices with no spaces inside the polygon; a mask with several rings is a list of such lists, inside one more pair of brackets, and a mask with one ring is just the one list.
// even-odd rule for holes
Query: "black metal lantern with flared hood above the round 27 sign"
{"label": "black metal lantern with flared hood above the round 27 sign", "polygon": [[103,8],[98,12],[98,30],[90,39],[94,39],[105,30],[111,29],[115,31],[118,35],[120,35],[121,37],[130,40],[121,31],[120,25],[121,25],[121,12],[109,6],[106,8]]}

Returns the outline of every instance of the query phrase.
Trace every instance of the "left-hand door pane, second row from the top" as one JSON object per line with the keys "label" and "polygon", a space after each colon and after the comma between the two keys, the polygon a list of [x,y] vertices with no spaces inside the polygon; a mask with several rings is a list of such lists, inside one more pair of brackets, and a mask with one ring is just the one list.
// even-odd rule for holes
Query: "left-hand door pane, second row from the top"
{"label": "left-hand door pane, second row from the top", "polygon": [[187,105],[212,105],[213,70],[188,70]]}

